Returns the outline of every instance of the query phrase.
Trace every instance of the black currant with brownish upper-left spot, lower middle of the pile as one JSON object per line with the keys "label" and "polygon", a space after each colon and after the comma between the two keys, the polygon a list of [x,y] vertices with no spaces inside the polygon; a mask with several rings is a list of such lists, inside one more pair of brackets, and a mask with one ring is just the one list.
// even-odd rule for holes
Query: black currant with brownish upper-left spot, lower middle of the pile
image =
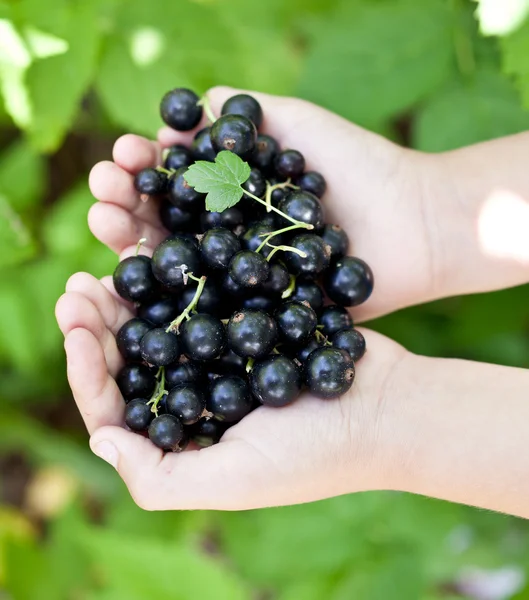
{"label": "black currant with brownish upper-left spot, lower middle of the pile", "polygon": [[240,310],[228,322],[228,346],[239,356],[262,358],[276,340],[276,322],[262,310]]}

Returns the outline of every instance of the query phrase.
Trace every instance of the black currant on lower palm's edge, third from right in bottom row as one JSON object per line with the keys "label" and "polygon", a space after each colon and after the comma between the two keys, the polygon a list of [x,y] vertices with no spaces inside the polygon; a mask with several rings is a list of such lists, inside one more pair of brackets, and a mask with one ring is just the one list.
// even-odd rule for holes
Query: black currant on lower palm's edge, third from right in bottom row
{"label": "black currant on lower palm's edge, third from right in bottom row", "polygon": [[241,377],[217,377],[211,384],[207,409],[218,421],[235,423],[251,412],[252,408],[250,389]]}

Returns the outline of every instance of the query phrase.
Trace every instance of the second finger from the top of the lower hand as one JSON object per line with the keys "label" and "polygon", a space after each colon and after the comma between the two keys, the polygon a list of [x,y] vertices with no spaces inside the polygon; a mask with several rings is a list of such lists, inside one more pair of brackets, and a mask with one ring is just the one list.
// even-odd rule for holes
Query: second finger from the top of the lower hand
{"label": "second finger from the top of the lower hand", "polygon": [[116,338],[90,300],[79,292],[67,292],[57,301],[55,314],[65,337],[74,329],[89,331],[99,342],[108,372],[115,376],[123,364]]}

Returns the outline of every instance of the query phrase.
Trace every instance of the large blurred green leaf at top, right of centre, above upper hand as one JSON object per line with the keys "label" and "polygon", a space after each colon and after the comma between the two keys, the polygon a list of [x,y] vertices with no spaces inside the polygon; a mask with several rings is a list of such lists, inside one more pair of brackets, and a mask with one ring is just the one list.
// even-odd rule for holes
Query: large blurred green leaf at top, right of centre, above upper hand
{"label": "large blurred green leaf at top, right of centre, above upper hand", "polygon": [[299,93],[379,126],[434,92],[452,69],[452,21],[437,0],[344,3],[317,22]]}

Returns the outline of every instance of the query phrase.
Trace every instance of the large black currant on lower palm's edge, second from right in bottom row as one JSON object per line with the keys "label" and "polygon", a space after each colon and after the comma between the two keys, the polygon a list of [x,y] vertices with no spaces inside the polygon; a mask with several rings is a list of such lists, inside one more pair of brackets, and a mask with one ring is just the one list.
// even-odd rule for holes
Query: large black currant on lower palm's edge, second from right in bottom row
{"label": "large black currant on lower palm's edge, second from right in bottom row", "polygon": [[301,393],[301,371],[296,363],[277,354],[255,363],[250,373],[252,394],[265,406],[286,406]]}

